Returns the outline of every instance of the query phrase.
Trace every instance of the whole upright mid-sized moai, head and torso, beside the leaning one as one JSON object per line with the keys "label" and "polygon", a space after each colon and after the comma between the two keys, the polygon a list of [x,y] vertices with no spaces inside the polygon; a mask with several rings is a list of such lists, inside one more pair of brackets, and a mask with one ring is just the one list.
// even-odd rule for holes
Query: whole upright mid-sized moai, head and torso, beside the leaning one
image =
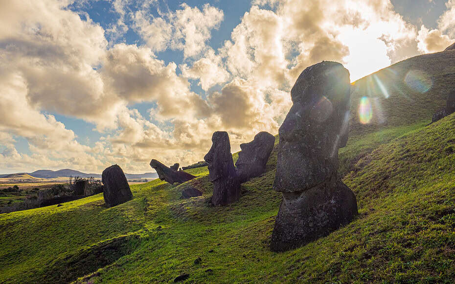
{"label": "whole upright mid-sized moai, head and torso, beside the leaning one", "polygon": [[229,135],[216,131],[212,135],[212,147],[205,155],[210,181],[213,183],[212,204],[227,205],[240,196],[240,182],[230,152]]}

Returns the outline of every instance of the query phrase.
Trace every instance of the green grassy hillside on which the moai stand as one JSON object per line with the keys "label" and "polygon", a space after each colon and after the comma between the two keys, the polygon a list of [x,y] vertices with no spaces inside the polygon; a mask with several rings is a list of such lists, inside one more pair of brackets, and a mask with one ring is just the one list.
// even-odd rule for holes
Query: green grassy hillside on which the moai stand
{"label": "green grassy hillside on which the moai stand", "polygon": [[[270,252],[281,200],[272,189],[274,151],[267,172],[243,184],[241,199],[226,207],[210,206],[212,185],[202,167],[187,170],[198,177],[179,186],[160,180],[133,185],[134,199],[114,208],[106,208],[99,194],[62,207],[1,214],[0,283],[154,283],[184,273],[188,283],[453,283],[455,115],[425,125],[444,105],[442,91],[450,88],[444,78],[455,79],[438,58],[450,60],[455,52],[431,56],[439,66],[429,67],[433,61],[424,55],[391,67],[395,83],[385,86],[401,86],[406,96],[390,91],[387,99],[378,98],[376,105],[390,110],[380,117],[374,112],[367,124],[356,111],[369,79],[356,82],[340,171],[360,214],[329,236]],[[419,60],[433,84],[411,94],[398,85],[399,74]],[[189,184],[204,194],[180,199]]]}

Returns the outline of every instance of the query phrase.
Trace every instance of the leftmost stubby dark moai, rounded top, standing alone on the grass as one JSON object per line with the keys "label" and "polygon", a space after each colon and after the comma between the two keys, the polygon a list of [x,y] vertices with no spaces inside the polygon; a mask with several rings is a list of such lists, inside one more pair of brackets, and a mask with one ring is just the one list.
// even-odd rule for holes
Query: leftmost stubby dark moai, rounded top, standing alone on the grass
{"label": "leftmost stubby dark moai, rounded top, standing alone on the grass", "polygon": [[130,186],[120,166],[113,165],[103,170],[101,182],[104,185],[104,202],[109,207],[124,203],[133,198]]}

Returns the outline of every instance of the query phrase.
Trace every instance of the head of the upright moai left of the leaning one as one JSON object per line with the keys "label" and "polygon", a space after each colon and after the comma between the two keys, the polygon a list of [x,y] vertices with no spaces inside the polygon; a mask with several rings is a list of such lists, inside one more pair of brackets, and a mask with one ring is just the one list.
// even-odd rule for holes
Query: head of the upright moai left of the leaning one
{"label": "head of the upright moai left of the leaning one", "polygon": [[228,132],[216,131],[213,133],[212,147],[204,160],[208,163],[208,176],[211,182],[235,175]]}

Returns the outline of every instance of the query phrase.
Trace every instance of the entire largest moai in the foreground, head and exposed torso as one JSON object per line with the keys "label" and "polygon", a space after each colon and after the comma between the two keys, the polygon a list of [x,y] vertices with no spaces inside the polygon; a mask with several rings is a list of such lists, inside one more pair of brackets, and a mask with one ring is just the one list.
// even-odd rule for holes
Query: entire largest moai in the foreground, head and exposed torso
{"label": "entire largest moai in the foreground, head and exposed torso", "polygon": [[283,194],[271,250],[325,236],[357,214],[354,193],[338,174],[348,138],[349,71],[323,61],[306,68],[291,90],[293,106],[279,128],[274,189]]}

